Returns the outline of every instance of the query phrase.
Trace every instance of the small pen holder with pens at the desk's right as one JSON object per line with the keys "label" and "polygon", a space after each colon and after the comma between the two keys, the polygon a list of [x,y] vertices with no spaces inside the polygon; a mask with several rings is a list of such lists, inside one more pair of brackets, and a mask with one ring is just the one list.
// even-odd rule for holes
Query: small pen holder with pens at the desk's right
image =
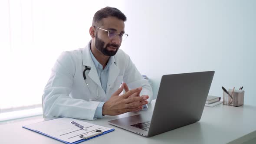
{"label": "small pen holder with pens at the desk's right", "polygon": [[[228,90],[230,95],[231,95],[232,91],[233,91],[233,89]],[[243,105],[244,90],[234,90],[232,97],[233,97],[233,99],[230,98],[230,96],[228,94],[226,94],[226,92],[223,91],[223,105],[232,105],[232,106],[236,106],[236,107]]]}

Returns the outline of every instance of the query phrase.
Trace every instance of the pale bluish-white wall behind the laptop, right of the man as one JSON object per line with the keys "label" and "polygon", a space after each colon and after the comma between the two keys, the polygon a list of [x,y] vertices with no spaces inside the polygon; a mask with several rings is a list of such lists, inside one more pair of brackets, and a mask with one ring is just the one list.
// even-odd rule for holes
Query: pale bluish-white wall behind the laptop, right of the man
{"label": "pale bluish-white wall behind the laptop, right of the man", "polygon": [[255,0],[127,0],[122,43],[157,95],[161,75],[214,70],[209,95],[245,90],[256,105]]}

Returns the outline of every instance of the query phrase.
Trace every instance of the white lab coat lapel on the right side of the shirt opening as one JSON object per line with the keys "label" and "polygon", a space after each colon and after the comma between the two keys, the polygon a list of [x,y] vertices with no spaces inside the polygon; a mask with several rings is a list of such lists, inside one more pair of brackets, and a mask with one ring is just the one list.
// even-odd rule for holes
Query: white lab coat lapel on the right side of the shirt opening
{"label": "white lab coat lapel on the right side of the shirt opening", "polygon": [[119,71],[118,66],[116,66],[114,62],[109,66],[108,86],[106,93],[108,93],[109,88],[111,88],[115,82],[115,79],[118,77]]}

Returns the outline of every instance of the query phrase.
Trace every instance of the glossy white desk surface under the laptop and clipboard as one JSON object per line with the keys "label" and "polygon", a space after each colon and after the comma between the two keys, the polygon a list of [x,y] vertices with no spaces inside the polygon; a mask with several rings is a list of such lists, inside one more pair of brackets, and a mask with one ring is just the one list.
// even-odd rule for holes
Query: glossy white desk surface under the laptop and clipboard
{"label": "glossy white desk surface under the laptop and clipboard", "polygon": [[[154,100],[149,110],[154,107]],[[145,111],[140,111],[145,112]],[[115,128],[115,131],[96,137],[81,144],[241,144],[256,137],[256,107],[244,105],[233,107],[217,105],[205,107],[199,122],[190,124],[153,137],[143,137],[107,123],[107,121],[136,115],[127,113],[119,116],[105,116],[90,123]],[[42,134],[22,128],[23,125],[43,121],[31,120],[0,125],[1,144],[64,144]],[[253,140],[254,141],[254,140]]]}

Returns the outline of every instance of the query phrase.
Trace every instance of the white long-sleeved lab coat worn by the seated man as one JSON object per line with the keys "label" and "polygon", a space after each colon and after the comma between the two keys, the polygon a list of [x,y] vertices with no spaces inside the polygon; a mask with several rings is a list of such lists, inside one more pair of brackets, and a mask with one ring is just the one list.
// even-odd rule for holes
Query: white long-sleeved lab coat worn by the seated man
{"label": "white long-sleeved lab coat worn by the seated man", "polygon": [[[44,115],[94,120],[95,110],[100,101],[107,101],[122,82],[131,89],[142,86],[141,95],[148,95],[148,102],[151,102],[152,88],[138,72],[130,57],[119,49],[114,58],[115,63],[109,66],[105,93],[90,55],[89,44],[85,48],[62,52],[44,89]],[[91,70],[85,73],[92,94],[83,78],[85,65],[91,67]]]}

